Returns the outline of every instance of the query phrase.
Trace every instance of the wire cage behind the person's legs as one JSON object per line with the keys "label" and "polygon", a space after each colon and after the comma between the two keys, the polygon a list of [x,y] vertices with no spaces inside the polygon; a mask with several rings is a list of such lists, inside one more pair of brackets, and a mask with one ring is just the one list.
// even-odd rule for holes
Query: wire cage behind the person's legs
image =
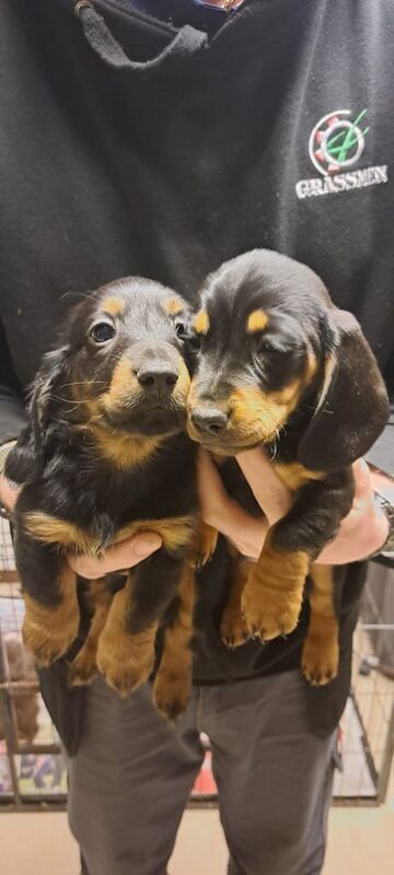
{"label": "wire cage behind the person's legs", "polygon": [[[22,643],[21,598],[10,527],[0,517],[0,812],[59,810],[67,800],[60,739]],[[370,562],[355,634],[354,676],[341,720],[335,804],[384,802],[394,746],[394,570]],[[190,806],[217,804],[209,738]]]}

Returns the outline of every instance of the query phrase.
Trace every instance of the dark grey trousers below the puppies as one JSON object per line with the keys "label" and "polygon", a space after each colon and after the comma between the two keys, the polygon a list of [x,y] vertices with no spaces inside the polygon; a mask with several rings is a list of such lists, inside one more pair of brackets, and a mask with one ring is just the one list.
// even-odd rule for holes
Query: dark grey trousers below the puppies
{"label": "dark grey trousers below the puppies", "polygon": [[[126,700],[101,679],[69,760],[69,821],[89,875],[165,875],[209,735],[228,875],[317,875],[334,738],[311,735],[304,681],[288,672],[196,688],[175,728],[142,687]],[[221,873],[207,873],[221,875]]]}

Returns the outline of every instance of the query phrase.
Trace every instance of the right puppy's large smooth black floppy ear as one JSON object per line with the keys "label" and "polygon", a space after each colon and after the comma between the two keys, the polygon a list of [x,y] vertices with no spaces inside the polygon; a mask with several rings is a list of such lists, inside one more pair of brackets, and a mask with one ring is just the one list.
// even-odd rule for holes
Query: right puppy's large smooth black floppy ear
{"label": "right puppy's large smooth black floppy ear", "polygon": [[336,339],[326,359],[315,413],[298,453],[302,465],[327,472],[367,453],[389,417],[386,389],[357,319],[336,308],[329,318]]}

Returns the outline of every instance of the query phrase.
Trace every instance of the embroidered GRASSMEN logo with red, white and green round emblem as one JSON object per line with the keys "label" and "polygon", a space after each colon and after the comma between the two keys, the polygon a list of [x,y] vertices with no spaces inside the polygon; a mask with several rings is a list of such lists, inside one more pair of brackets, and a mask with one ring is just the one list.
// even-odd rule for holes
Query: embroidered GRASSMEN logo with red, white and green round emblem
{"label": "embroidered GRASSMEN logo with red, white and green round emblem", "polygon": [[336,109],[317,121],[309,139],[309,155],[323,178],[300,179],[296,185],[299,199],[389,182],[386,164],[352,170],[366,148],[367,115],[368,109],[356,114]]}

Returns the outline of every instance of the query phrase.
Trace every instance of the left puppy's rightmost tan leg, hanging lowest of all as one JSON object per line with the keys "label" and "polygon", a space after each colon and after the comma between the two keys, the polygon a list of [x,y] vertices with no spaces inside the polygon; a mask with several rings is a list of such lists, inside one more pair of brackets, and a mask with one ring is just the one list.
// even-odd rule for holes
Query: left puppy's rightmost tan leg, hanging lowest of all
{"label": "left puppy's rightmost tan leg, hanging lowest of all", "polygon": [[160,668],[153,686],[153,700],[158,710],[174,722],[185,711],[192,688],[193,617],[196,600],[195,573],[185,563],[179,587],[178,612],[164,633],[164,648]]}

